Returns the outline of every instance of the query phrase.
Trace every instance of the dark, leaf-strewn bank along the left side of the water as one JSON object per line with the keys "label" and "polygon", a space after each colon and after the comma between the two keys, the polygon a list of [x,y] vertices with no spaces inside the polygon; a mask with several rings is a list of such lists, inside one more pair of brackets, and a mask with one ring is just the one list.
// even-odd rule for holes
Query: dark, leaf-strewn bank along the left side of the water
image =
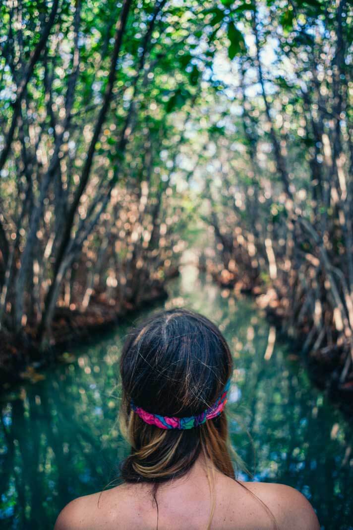
{"label": "dark, leaf-strewn bank along the left side of the water", "polygon": [[[170,277],[178,276],[178,271]],[[141,309],[168,297],[164,284],[151,288],[149,297],[139,305],[125,303],[119,311],[112,305],[93,299],[85,312],[69,307],[58,307],[52,324],[48,349],[40,352],[34,333],[28,330],[21,340],[4,330],[0,331],[0,388],[8,390],[13,384],[39,377],[37,369],[53,364],[65,349],[78,342],[89,341],[126,319],[133,319]]]}

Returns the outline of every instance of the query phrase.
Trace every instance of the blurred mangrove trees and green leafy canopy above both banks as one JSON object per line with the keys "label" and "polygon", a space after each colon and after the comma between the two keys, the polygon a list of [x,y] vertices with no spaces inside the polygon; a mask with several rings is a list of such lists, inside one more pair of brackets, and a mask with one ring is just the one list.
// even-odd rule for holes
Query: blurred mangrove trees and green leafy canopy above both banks
{"label": "blurred mangrove trees and green leafy canopy above both banks", "polygon": [[0,16],[2,333],[45,351],[64,316],[160,295],[193,245],[304,351],[334,352],[345,384],[349,3],[6,0]]}

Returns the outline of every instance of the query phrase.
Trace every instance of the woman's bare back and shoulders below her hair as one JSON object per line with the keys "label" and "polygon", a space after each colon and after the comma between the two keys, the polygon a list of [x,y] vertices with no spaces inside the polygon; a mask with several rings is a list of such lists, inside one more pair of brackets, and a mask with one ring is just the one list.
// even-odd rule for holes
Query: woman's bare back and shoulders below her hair
{"label": "woman's bare back and shoulders below her hair", "polygon": [[[283,484],[239,483],[214,476],[211,530],[319,530],[310,503]],[[262,502],[261,502],[262,501]],[[205,530],[210,486],[201,462],[189,474],[158,488],[158,530]],[[264,503],[264,504],[262,504]],[[264,506],[265,505],[265,506]],[[70,502],[55,530],[156,530],[157,506],[147,484],[122,484]]]}

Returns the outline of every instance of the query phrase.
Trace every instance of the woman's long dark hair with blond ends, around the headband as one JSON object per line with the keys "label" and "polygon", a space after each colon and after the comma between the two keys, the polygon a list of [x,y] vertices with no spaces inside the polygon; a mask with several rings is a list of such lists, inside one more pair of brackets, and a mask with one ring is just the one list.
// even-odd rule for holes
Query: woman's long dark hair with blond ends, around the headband
{"label": "woman's long dark hair with blond ends, around the headband", "polygon": [[126,338],[120,373],[121,423],[132,446],[122,464],[125,481],[182,476],[200,454],[234,476],[224,413],[191,429],[167,430],[149,425],[131,407],[133,402],[152,414],[185,418],[215,403],[232,374],[232,357],[209,319],[184,308],[153,314]]}

